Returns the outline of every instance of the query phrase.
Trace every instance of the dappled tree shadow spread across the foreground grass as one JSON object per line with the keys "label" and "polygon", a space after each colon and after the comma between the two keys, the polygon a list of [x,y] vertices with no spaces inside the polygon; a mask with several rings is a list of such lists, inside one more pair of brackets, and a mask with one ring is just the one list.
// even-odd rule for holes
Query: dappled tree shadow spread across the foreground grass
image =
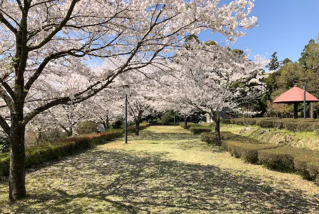
{"label": "dappled tree shadow spread across the foreground grass", "polygon": [[[30,175],[16,213],[308,213],[319,210],[290,186],[272,186],[213,165],[164,160],[166,153],[90,150]],[[46,192],[37,190],[45,189]]]}

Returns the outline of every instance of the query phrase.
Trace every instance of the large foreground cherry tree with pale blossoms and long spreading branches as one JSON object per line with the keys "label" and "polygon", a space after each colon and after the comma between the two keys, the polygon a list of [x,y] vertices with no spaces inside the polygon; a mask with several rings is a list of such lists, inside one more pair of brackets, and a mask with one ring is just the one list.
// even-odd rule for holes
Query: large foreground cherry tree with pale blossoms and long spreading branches
{"label": "large foreground cherry tree with pale blossoms and long spreading branches", "polygon": [[[57,105],[85,101],[108,87],[117,75],[171,56],[188,34],[211,30],[234,40],[252,28],[250,0],[1,0],[0,97],[9,111],[0,125],[9,135],[9,198],[25,193],[25,125]],[[121,63],[100,76],[91,72],[90,58]],[[82,88],[58,97],[49,92],[58,76],[87,78]],[[74,76],[70,76],[72,80]],[[32,92],[33,91],[33,92]],[[37,105],[30,105],[37,102]],[[25,104],[29,107],[25,109]]]}

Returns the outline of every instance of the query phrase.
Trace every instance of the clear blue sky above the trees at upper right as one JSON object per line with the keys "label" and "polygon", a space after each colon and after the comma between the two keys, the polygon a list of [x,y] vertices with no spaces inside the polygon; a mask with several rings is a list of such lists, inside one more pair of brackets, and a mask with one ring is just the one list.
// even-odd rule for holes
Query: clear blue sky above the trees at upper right
{"label": "clear blue sky above the trees at upper right", "polygon": [[[227,3],[229,0],[221,0]],[[319,0],[255,0],[251,15],[258,17],[258,26],[247,31],[231,48],[252,50],[270,58],[277,51],[278,60],[297,61],[304,46],[319,33]],[[199,39],[225,44],[219,34],[203,32]]]}

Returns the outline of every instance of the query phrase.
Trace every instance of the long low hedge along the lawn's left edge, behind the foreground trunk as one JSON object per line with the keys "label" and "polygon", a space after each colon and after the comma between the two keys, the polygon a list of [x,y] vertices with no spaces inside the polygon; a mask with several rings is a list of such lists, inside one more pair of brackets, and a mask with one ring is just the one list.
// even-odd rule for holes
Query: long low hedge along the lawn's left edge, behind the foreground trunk
{"label": "long low hedge along the lawn's left edge, behind the foreground trunk", "polygon": [[[114,130],[90,134],[86,136],[70,137],[59,143],[48,143],[41,146],[30,147],[25,151],[25,167],[56,160],[95,145],[104,144],[109,140],[123,136],[123,130]],[[9,174],[9,153],[0,154],[0,175]]]}

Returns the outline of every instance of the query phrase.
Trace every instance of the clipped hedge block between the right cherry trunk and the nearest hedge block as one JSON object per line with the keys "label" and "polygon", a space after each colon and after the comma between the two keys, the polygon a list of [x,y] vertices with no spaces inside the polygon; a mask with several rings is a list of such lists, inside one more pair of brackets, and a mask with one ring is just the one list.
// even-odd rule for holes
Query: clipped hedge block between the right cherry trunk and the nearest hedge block
{"label": "clipped hedge block between the right cherry trunk and the nearest hedge block", "polygon": [[228,142],[228,152],[236,158],[241,158],[248,163],[258,163],[258,151],[277,148],[280,145],[271,143],[240,143]]}

